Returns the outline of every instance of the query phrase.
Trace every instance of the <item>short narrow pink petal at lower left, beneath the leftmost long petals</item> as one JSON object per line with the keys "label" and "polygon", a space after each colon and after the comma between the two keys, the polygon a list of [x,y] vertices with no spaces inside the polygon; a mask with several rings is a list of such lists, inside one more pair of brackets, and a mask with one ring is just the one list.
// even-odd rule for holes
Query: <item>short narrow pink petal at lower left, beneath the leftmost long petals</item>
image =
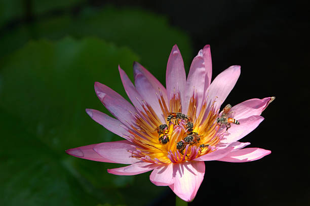
{"label": "short narrow pink petal at lower left, beneath the leftmost long petals", "polygon": [[156,167],[154,163],[140,161],[122,168],[108,169],[107,172],[114,175],[138,175],[151,171]]}

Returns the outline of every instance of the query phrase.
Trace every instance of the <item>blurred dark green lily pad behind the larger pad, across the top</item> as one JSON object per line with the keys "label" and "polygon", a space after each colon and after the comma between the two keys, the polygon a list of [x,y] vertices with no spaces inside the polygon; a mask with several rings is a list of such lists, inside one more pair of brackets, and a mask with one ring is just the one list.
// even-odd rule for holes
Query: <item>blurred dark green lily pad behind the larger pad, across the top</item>
{"label": "blurred dark green lily pad behind the larger pad, across the top", "polygon": [[177,44],[189,68],[192,49],[188,36],[171,28],[164,17],[138,9],[86,8],[76,15],[43,18],[22,25],[0,36],[3,56],[21,47],[29,39],[59,39],[66,35],[76,38],[97,36],[117,46],[127,46],[141,57],[145,65],[162,82],[165,80],[167,60]]}

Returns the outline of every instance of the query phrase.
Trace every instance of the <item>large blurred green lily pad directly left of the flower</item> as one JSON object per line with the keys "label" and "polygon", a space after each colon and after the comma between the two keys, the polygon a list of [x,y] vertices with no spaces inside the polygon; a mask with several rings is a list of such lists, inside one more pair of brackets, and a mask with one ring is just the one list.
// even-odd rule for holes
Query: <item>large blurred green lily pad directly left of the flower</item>
{"label": "large blurred green lily pad directly left of the flower", "polygon": [[[118,69],[107,70],[117,67],[115,62],[131,70],[137,59],[128,49],[96,38],[30,42],[4,59],[0,108],[5,110],[5,148],[0,156],[6,157],[1,190],[8,199],[1,205],[42,205],[50,198],[55,204],[65,199],[65,205],[121,199],[115,188],[132,183],[133,177],[107,174],[107,168],[117,165],[72,158],[64,151],[121,139],[89,118],[85,108],[102,108],[93,90],[95,80],[107,85],[115,81],[114,89],[121,90]],[[88,196],[82,201],[84,192]]]}

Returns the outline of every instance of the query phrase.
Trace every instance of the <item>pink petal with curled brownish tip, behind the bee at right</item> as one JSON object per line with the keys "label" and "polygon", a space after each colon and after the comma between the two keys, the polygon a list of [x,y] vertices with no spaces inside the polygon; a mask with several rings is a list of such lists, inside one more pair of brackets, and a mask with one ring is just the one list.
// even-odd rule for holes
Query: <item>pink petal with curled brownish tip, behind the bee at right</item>
{"label": "pink petal with curled brownish tip, behind the bee at right", "polygon": [[260,115],[271,101],[271,97],[244,101],[231,108],[232,117],[243,119],[253,115]]}

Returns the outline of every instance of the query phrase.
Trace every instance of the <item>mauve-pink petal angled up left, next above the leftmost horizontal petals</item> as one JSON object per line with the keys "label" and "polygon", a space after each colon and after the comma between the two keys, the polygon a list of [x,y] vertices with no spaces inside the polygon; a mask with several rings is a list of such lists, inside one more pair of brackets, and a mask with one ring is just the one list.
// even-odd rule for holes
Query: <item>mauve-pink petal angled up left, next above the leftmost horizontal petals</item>
{"label": "mauve-pink petal angled up left, next above the leftmost horizontal petals", "polygon": [[123,123],[115,118],[112,118],[108,116],[105,113],[102,113],[95,109],[86,109],[86,113],[94,119],[96,122],[98,122],[100,125],[102,125],[105,129],[111,131],[114,134],[117,134],[120,137],[124,137],[125,139],[131,141],[128,137],[130,136],[130,133],[125,130],[126,128]]}

